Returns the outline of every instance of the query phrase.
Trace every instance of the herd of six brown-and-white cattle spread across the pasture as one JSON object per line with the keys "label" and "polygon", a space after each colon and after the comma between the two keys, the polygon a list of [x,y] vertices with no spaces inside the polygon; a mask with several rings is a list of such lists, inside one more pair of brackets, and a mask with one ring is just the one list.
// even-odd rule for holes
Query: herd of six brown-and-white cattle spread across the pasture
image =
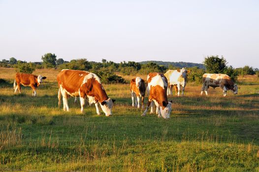
{"label": "herd of six brown-and-white cattle spread across the pasture", "polygon": [[[147,92],[148,105],[142,114],[146,115],[151,105],[151,112],[153,113],[153,104],[156,105],[156,114],[159,117],[169,118],[171,113],[172,101],[167,100],[167,95],[172,94],[172,88],[175,94],[180,95],[182,88],[182,95],[187,83],[187,74],[189,70],[185,68],[177,70],[168,70],[164,75],[158,72],[149,73],[147,76],[147,83],[140,77],[136,77],[130,81],[130,91],[132,98],[132,106],[144,109],[144,97]],[[227,95],[227,90],[232,90],[237,94],[237,85],[233,83],[229,76],[225,74],[204,74],[202,76],[203,86],[200,95],[205,91],[206,95],[209,86],[221,87],[223,95]],[[14,80],[14,92],[19,90],[21,93],[21,85],[32,87],[32,96],[36,96],[36,87],[38,87],[42,80],[46,77],[41,75],[35,76],[32,74],[17,73]],[[109,98],[101,85],[99,77],[90,72],[81,70],[63,69],[57,76],[59,92],[59,107],[61,105],[61,96],[63,97],[63,109],[69,111],[68,100],[69,96],[80,97],[81,112],[85,105],[85,99],[88,98],[90,104],[95,104],[97,115],[100,115],[98,103],[106,116],[112,115],[111,109],[115,100]],[[76,99],[75,99],[76,100]]]}

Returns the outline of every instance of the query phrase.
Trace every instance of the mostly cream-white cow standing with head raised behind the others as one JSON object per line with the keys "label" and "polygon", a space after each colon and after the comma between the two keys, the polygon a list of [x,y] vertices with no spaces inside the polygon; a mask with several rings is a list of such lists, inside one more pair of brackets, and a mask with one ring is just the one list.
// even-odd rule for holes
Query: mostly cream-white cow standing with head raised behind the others
{"label": "mostly cream-white cow standing with head raised behind the others", "polygon": [[177,70],[168,70],[165,72],[164,76],[168,80],[168,88],[167,88],[167,95],[172,94],[172,87],[174,87],[175,95],[180,95],[181,86],[182,88],[182,95],[184,95],[184,89],[187,82],[187,73],[190,73],[190,70],[186,70],[184,67],[182,69]]}

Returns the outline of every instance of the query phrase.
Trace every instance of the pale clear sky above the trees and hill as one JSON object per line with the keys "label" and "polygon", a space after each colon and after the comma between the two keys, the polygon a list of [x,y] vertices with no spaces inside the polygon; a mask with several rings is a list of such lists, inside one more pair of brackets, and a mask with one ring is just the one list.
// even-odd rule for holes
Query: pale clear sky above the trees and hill
{"label": "pale clear sky above the trees and hill", "polygon": [[259,68],[259,0],[0,0],[0,60],[46,53]]}

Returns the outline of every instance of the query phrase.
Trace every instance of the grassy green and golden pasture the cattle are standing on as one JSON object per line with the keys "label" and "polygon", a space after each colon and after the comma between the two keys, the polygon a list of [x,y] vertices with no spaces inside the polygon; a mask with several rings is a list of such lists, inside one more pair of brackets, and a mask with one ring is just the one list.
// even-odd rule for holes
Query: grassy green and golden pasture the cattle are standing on
{"label": "grassy green and golden pasture the cattle are standing on", "polygon": [[0,171],[259,172],[256,76],[239,78],[238,94],[227,97],[220,88],[199,96],[201,85],[188,83],[184,97],[169,96],[166,120],[131,107],[129,84],[103,85],[116,99],[112,116],[94,105],[80,114],[73,98],[64,112],[58,72],[36,70],[47,79],[32,97],[30,87],[14,94],[15,69],[0,68]]}

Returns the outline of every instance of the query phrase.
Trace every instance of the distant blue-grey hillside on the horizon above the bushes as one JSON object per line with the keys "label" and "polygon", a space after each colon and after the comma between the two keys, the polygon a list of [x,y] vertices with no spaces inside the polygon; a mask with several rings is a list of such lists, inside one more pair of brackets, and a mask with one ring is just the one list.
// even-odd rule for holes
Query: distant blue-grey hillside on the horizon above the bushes
{"label": "distant blue-grey hillside on the horizon above the bushes", "polygon": [[141,61],[139,63],[140,64],[146,64],[146,63],[149,63],[149,62],[157,63],[159,65],[164,65],[166,67],[168,67],[168,65],[171,64],[171,65],[173,65],[175,67],[179,67],[179,68],[197,66],[199,68],[204,69],[204,66],[201,63],[191,63],[191,62],[183,62],[183,61],[179,61],[179,62],[170,62],[170,61]]}

